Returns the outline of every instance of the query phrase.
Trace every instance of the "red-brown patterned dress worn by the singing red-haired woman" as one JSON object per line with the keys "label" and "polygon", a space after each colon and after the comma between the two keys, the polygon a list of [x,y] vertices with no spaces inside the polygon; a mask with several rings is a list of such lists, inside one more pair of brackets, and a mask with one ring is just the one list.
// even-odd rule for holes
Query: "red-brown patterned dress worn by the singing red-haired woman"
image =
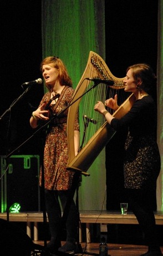
{"label": "red-brown patterned dress worn by the singing red-haired woman", "polygon": [[[74,93],[72,87],[65,86],[57,103],[52,107],[53,114],[59,114],[67,107]],[[45,93],[40,105],[50,100],[50,92]],[[72,185],[73,171],[67,171],[67,115],[68,109],[50,123],[44,147],[44,187],[48,190],[68,190]],[[79,115],[75,120],[75,130],[79,131]],[[40,185],[42,171],[40,170]]]}

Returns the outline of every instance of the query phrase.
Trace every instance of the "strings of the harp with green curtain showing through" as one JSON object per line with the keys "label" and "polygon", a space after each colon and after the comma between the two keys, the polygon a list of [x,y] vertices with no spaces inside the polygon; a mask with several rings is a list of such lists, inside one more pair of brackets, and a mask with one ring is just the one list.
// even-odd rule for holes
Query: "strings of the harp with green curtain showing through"
{"label": "strings of the harp with green curtain showing through", "polygon": [[[93,82],[88,82],[87,88],[89,89],[92,85]],[[82,111],[80,111],[80,149],[81,146],[83,148],[88,143],[95,132],[98,131],[101,125],[103,125],[105,122],[103,115],[100,115],[98,112],[94,111],[94,105],[96,102],[102,101],[104,103],[106,99],[114,98],[114,96],[117,94],[118,105],[121,105],[125,101],[125,93],[126,92],[124,92],[124,90],[110,88],[104,83],[100,83],[83,97],[83,109],[81,107]],[[106,110],[108,110],[111,114],[115,112],[115,110],[111,109],[110,107],[106,107]],[[85,119],[84,116],[88,117],[92,121],[95,121],[95,123]]]}

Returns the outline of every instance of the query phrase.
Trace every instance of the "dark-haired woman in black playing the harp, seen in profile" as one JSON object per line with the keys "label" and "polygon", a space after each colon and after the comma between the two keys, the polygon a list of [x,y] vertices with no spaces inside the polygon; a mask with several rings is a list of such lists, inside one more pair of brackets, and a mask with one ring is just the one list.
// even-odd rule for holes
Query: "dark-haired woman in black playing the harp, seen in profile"
{"label": "dark-haired woman in black playing the harp, seen in profile", "polygon": [[[124,179],[129,205],[144,231],[147,253],[142,255],[162,255],[156,238],[155,216],[151,202],[156,193],[156,180],[160,173],[160,153],[156,142],[156,106],[150,96],[156,86],[156,76],[149,65],[144,63],[130,66],[124,79],[125,91],[133,92],[136,98],[131,110],[116,119],[101,101],[94,110],[105,116],[115,130],[128,127],[125,142]],[[118,109],[117,96],[105,101],[105,105]]]}

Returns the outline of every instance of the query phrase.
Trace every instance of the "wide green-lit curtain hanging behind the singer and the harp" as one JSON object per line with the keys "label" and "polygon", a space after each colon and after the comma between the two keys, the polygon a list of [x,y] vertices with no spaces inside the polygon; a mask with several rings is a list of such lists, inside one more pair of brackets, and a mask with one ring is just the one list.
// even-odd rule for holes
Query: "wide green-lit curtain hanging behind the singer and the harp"
{"label": "wide green-lit curtain hanging behind the singer and the harp", "polygon": [[[43,58],[61,58],[74,88],[83,75],[90,51],[105,60],[104,6],[104,0],[42,0]],[[79,209],[106,209],[104,150],[88,173],[90,176],[82,178],[79,188]]]}

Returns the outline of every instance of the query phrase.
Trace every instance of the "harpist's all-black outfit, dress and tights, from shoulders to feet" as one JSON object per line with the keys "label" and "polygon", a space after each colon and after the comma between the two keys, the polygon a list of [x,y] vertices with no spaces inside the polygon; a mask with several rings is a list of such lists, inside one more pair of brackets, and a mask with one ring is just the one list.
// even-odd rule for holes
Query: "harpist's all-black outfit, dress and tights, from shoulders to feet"
{"label": "harpist's all-black outfit, dress and tights, from shoulders to feet", "polygon": [[156,142],[156,116],[154,100],[151,96],[144,96],[135,101],[124,117],[113,119],[111,126],[115,130],[128,127],[124,149],[126,195],[144,232],[149,252],[152,255],[162,255],[153,212],[156,209],[156,180],[161,168]]}

